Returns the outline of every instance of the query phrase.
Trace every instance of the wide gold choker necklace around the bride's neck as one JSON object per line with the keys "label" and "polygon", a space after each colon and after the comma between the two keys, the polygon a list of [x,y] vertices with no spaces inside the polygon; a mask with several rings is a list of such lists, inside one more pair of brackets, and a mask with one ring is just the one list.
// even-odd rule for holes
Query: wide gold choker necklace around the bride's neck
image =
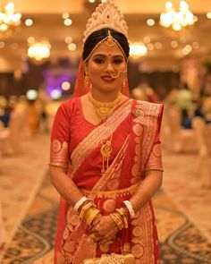
{"label": "wide gold choker necklace around the bride's neck", "polygon": [[105,121],[113,113],[113,108],[122,100],[122,94],[119,93],[118,97],[114,99],[113,102],[102,103],[93,98],[92,94],[89,92],[89,101],[93,104],[97,116]]}

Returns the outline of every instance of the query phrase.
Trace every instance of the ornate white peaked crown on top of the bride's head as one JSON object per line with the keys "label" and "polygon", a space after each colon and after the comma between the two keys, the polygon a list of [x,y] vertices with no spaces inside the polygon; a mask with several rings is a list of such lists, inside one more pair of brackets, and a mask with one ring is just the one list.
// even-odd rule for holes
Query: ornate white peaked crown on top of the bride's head
{"label": "ornate white peaked crown on top of the bride's head", "polygon": [[112,0],[102,1],[96,11],[92,13],[86,25],[83,41],[85,42],[92,32],[105,28],[119,31],[126,37],[128,36],[128,26],[124,16]]}

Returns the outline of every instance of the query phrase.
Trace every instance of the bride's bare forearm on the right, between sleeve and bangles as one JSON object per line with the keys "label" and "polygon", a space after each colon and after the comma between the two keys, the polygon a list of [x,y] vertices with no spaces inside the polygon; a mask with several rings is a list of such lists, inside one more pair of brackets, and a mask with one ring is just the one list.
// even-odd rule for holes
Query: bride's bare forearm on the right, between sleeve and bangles
{"label": "bride's bare forearm on the right, between sleeve and bangles", "polygon": [[135,212],[153,197],[161,186],[162,180],[163,172],[156,170],[148,171],[145,179],[139,184],[137,192],[130,199]]}

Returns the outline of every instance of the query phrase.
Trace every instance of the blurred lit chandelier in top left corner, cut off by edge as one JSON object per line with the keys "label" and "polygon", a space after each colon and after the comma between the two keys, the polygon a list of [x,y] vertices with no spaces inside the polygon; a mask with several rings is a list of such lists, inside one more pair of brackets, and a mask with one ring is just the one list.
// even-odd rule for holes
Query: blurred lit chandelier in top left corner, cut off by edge
{"label": "blurred lit chandelier in top left corner, cut off by edge", "polygon": [[11,30],[21,24],[21,13],[15,13],[14,4],[10,2],[3,5],[0,1],[0,34],[8,35]]}

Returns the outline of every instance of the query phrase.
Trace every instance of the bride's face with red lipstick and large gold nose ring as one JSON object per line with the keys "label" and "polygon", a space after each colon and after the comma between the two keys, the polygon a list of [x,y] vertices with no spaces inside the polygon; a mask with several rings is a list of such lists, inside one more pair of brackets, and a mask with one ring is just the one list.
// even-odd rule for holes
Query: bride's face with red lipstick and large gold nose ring
{"label": "bride's face with red lipstick and large gold nose ring", "polygon": [[86,70],[92,89],[103,92],[121,91],[127,63],[117,43],[110,47],[103,41],[90,55]]}

